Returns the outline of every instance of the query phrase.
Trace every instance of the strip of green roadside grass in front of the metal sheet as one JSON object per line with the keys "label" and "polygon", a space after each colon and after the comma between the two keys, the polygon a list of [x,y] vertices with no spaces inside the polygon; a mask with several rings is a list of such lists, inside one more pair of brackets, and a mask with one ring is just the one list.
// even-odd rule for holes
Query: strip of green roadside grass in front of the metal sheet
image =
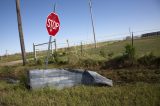
{"label": "strip of green roadside grass in front of the metal sheet", "polygon": [[63,90],[28,91],[0,81],[1,106],[158,106],[160,84],[114,87],[77,86]]}

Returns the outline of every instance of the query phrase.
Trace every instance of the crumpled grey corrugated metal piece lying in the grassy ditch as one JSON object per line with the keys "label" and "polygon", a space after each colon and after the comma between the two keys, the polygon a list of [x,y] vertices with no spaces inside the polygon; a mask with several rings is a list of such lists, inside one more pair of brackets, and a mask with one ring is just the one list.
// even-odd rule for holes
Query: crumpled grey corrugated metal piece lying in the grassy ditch
{"label": "crumpled grey corrugated metal piece lying in the grassy ditch", "polygon": [[112,80],[109,80],[96,72],[84,71],[81,69],[35,69],[28,72],[28,85],[31,89],[44,87],[62,89],[64,87],[72,87],[80,84],[113,85]]}

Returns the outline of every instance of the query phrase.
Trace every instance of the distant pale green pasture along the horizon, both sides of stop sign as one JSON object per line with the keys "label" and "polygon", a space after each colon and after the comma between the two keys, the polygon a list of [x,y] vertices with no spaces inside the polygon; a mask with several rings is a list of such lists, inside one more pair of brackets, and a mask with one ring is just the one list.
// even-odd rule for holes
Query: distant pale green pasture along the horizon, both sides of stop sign
{"label": "distant pale green pasture along the horizon, both sides of stop sign", "polygon": [[[101,42],[97,43],[97,49],[94,48],[93,44],[83,45],[83,54],[88,55],[100,55],[100,51],[103,51],[108,55],[109,53],[113,53],[113,57],[122,55],[124,51],[124,46],[128,43],[131,43],[131,40],[123,40],[118,42]],[[141,57],[145,54],[153,52],[155,56],[160,56],[160,37],[148,37],[134,40],[134,46],[136,48],[137,57]],[[68,52],[72,51],[75,54],[80,55],[81,50],[80,46],[71,47],[69,50],[67,49],[59,49],[59,52]],[[37,52],[37,56],[46,56],[45,51]],[[27,53],[27,59],[33,58],[33,53]],[[9,62],[20,60],[21,55],[9,55],[8,57],[2,57],[0,62]]]}

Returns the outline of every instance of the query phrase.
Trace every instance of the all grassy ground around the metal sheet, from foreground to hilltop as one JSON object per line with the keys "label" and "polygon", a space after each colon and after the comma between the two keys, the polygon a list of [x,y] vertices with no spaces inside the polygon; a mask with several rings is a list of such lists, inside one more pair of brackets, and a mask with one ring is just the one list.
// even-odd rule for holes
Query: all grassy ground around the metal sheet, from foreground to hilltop
{"label": "all grassy ground around the metal sheet, from foreground to hilltop", "polygon": [[[124,54],[124,46],[130,41],[124,40],[108,44],[102,42],[97,49],[92,45],[84,46],[83,54],[80,49],[76,52],[59,50],[57,61],[51,59],[48,68],[82,68],[94,70],[113,80],[113,87],[76,86],[55,90],[45,88],[36,91],[25,87],[26,72],[30,69],[43,69],[44,58],[36,63],[32,60],[26,66],[0,67],[0,106],[159,106],[160,105],[160,67],[154,67],[154,59],[160,56],[160,37],[137,39],[136,65],[113,68],[103,67],[106,62]],[[77,47],[80,48],[80,47]],[[64,53],[65,52],[65,53]],[[153,53],[154,56],[148,56]],[[60,55],[61,53],[61,55]],[[146,65],[139,65],[142,56]],[[29,55],[30,58],[33,56]],[[148,57],[147,57],[148,56]],[[16,60],[18,57],[8,57],[3,62]],[[160,62],[158,60],[158,62]],[[153,64],[152,64],[153,63]],[[7,83],[5,78],[20,80],[18,84]]]}

